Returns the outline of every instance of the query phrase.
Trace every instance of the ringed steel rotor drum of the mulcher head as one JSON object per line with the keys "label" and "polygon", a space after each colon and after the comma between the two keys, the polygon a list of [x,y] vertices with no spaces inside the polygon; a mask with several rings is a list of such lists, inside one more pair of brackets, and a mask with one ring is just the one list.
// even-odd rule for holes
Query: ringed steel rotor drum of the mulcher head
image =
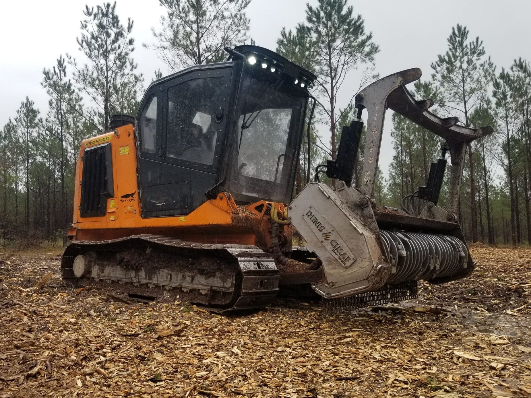
{"label": "ringed steel rotor drum of the mulcher head", "polygon": [[433,279],[466,269],[468,250],[459,239],[433,233],[380,230],[389,263],[390,283]]}

